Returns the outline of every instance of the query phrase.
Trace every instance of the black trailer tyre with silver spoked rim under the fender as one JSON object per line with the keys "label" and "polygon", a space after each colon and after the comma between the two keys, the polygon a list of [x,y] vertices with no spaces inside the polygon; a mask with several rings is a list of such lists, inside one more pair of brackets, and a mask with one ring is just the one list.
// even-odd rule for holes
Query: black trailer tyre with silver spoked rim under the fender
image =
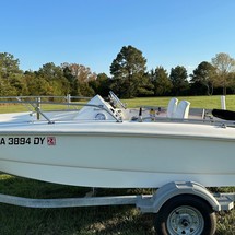
{"label": "black trailer tyre with silver spoked rim under the fender", "polygon": [[216,218],[203,199],[180,195],[169,199],[158,211],[154,222],[158,235],[212,235]]}

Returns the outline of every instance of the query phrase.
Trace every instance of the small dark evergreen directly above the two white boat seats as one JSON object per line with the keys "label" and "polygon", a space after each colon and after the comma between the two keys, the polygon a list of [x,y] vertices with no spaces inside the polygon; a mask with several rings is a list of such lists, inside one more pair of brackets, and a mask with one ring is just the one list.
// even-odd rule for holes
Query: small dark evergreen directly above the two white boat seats
{"label": "small dark evergreen directly above the two white boat seats", "polygon": [[189,83],[187,80],[187,70],[185,67],[177,66],[172,68],[169,79],[173,84],[174,95],[186,95],[189,90]]}

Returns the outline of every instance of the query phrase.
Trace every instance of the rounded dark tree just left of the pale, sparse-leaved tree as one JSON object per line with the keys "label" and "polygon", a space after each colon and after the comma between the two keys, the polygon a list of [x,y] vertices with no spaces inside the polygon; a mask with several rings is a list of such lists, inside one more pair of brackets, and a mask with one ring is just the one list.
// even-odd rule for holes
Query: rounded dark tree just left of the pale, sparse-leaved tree
{"label": "rounded dark tree just left of the pale, sparse-leaved tree", "polygon": [[207,62],[201,62],[191,74],[191,81],[192,84],[197,84],[198,89],[203,90],[203,86],[207,87],[207,94],[212,95],[214,90],[214,84],[216,82],[216,71],[215,68]]}

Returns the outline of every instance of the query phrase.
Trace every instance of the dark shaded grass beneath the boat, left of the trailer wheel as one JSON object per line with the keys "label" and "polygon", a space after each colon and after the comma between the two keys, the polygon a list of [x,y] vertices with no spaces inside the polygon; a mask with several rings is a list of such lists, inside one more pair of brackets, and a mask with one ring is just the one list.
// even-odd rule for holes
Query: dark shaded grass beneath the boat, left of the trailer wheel
{"label": "dark shaded grass beneath the boat, left of the trailer wheel", "polygon": [[[0,174],[0,193],[26,198],[83,197],[91,188],[42,183]],[[138,189],[101,189],[98,196],[131,195]],[[152,215],[130,205],[31,209],[0,204],[2,235],[152,235]]]}

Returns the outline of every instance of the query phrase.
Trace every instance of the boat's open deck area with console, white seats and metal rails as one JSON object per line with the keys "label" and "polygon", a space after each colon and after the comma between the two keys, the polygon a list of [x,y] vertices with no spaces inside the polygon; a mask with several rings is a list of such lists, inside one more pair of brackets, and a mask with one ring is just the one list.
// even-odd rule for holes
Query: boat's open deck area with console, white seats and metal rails
{"label": "boat's open deck area with console, white seats and metal rails", "polygon": [[[25,121],[185,121],[185,122],[233,122],[233,111],[221,109],[190,108],[190,102],[178,101],[176,97],[169,99],[167,107],[142,106],[127,108],[126,105],[110,91],[108,98],[95,95],[89,102],[49,101],[48,97],[32,96],[1,97],[0,103],[22,104],[27,111],[1,114],[0,122],[25,122]],[[63,97],[64,98],[64,97]],[[50,98],[51,99],[51,98]],[[59,110],[44,109],[44,105],[59,106]],[[61,108],[61,105],[63,108]],[[235,115],[234,115],[235,116]],[[231,118],[231,119],[230,119]]]}

